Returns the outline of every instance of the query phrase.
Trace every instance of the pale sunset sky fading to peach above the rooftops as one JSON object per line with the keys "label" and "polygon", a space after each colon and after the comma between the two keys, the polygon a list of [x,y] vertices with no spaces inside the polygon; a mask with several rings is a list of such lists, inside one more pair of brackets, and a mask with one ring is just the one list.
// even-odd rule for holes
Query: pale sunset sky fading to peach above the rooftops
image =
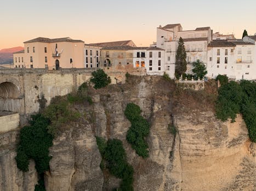
{"label": "pale sunset sky fading to peach above the rooftops", "polygon": [[1,0],[0,6],[0,50],[37,37],[149,46],[156,28],[170,23],[183,30],[209,26],[236,38],[244,29],[256,33],[255,0]]}

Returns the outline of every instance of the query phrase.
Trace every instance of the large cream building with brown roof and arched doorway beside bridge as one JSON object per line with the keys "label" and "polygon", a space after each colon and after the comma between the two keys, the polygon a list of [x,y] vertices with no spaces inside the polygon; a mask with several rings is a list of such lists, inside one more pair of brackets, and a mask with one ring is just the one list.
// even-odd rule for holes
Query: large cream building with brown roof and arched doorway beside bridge
{"label": "large cream building with brown roof and arched doorway beside bridge", "polygon": [[24,52],[15,52],[13,58],[15,68],[84,68],[84,41],[39,37],[25,41]]}

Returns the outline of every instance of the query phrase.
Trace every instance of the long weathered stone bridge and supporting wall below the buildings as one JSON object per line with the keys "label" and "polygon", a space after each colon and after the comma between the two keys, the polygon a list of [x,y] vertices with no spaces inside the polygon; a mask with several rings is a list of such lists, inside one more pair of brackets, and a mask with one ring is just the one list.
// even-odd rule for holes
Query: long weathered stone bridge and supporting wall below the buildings
{"label": "long weathered stone bridge and supporting wall below the buildings", "polygon": [[[38,100],[44,95],[47,103],[55,96],[64,96],[88,81],[95,68],[87,69],[0,69],[0,116],[19,113],[26,118],[39,110]],[[145,75],[145,71],[127,67],[104,68],[112,83],[125,81],[128,71]]]}

